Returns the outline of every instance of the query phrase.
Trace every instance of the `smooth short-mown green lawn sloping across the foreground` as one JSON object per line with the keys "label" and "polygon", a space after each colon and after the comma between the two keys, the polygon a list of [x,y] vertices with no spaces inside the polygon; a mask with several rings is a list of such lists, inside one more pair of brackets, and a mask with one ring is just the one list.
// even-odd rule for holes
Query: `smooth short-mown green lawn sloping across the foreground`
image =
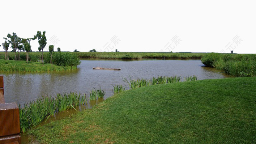
{"label": "smooth short-mown green lawn sloping across the foreground", "polygon": [[256,78],[150,85],[32,129],[41,143],[254,143]]}

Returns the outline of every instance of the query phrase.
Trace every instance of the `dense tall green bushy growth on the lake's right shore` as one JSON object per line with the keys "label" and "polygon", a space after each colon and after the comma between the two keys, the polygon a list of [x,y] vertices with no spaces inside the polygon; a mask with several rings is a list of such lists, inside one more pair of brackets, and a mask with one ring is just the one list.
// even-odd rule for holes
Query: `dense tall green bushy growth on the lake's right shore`
{"label": "dense tall green bushy growth on the lake's right shore", "polygon": [[236,77],[256,76],[256,54],[208,53],[201,59],[207,67]]}

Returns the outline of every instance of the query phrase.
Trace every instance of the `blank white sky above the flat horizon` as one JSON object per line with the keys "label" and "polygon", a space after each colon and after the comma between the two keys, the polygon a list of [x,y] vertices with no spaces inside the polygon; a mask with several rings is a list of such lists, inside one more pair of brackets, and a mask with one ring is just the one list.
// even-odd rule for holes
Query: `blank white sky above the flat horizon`
{"label": "blank white sky above the flat horizon", "polygon": [[[46,31],[44,51],[51,44],[54,51],[256,53],[254,0],[4,0],[0,5],[0,43],[8,33],[31,38]],[[31,46],[38,51],[38,40]]]}

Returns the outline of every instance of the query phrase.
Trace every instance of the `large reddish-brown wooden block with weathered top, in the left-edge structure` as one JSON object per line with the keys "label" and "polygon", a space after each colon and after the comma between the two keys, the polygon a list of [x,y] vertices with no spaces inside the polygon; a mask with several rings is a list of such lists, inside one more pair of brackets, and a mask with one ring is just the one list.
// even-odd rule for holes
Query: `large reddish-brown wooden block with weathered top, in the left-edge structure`
{"label": "large reddish-brown wooden block with weathered top, in the left-edge structure", "polygon": [[19,133],[20,113],[17,104],[0,104],[0,137]]}

